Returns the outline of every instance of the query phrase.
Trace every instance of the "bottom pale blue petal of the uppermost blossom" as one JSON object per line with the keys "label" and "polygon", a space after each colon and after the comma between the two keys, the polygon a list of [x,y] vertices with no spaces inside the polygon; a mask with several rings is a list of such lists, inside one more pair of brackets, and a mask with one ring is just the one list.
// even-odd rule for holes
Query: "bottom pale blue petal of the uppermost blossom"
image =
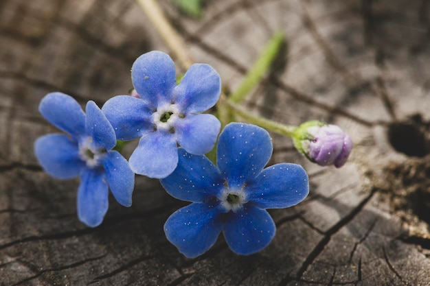
{"label": "bottom pale blue petal of the uppermost blossom", "polygon": [[143,136],[128,160],[132,171],[150,178],[166,178],[178,165],[174,134],[151,132]]}

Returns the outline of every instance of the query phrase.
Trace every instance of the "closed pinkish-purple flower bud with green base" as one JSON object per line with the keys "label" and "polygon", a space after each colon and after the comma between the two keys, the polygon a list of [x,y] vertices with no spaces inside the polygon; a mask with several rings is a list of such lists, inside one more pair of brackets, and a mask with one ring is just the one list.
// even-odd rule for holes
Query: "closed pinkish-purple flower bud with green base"
{"label": "closed pinkish-purple flower bud with green base", "polygon": [[321,121],[308,121],[297,127],[293,134],[296,149],[311,162],[321,166],[346,163],[352,150],[352,140],[339,126]]}

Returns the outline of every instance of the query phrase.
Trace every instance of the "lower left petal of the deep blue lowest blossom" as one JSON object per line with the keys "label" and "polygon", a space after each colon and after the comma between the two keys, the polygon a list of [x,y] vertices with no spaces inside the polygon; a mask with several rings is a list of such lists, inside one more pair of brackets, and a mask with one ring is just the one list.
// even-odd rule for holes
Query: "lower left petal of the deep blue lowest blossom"
{"label": "lower left petal of the deep blue lowest blossom", "polygon": [[198,257],[216,242],[223,228],[220,217],[215,206],[193,203],[170,215],[164,232],[185,257]]}

